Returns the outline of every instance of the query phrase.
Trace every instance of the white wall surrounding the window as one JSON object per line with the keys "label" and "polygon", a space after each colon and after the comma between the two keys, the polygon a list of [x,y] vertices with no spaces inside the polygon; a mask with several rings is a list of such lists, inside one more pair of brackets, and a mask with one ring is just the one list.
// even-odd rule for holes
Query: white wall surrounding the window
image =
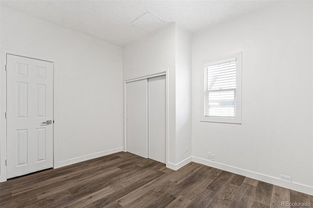
{"label": "white wall surrounding the window", "polygon": [[[312,1],[282,1],[193,36],[195,161],[313,194],[312,20]],[[242,124],[200,122],[202,60],[240,51]]]}

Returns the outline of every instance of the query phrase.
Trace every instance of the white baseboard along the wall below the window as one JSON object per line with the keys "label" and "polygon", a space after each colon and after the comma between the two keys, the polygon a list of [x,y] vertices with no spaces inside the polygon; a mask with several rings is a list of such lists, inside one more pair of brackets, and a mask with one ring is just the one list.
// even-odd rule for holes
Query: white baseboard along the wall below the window
{"label": "white baseboard along the wall below the window", "polygon": [[224,165],[221,163],[205,160],[205,159],[198,158],[198,157],[192,157],[192,162],[200,163],[200,164],[205,165],[205,166],[215,167],[215,168],[218,168],[221,170],[236,173],[238,175],[243,175],[245,177],[252,178],[252,179],[255,179],[258,181],[263,181],[263,182],[273,184],[273,185],[276,185],[279,187],[285,187],[285,188],[289,188],[291,190],[295,190],[295,191],[299,191],[302,193],[313,195],[313,187],[309,187],[309,186],[306,186],[303,184],[290,183],[290,182],[282,181],[279,178],[264,175],[261,173],[256,173],[253,171],[241,169],[241,168],[234,167],[234,166]]}

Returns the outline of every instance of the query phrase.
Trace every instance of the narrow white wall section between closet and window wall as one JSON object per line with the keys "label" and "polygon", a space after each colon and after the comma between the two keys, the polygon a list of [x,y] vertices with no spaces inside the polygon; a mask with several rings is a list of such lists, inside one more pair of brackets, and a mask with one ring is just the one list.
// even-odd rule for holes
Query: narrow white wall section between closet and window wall
{"label": "narrow white wall section between closet and window wall", "polygon": [[[176,24],[176,164],[191,157],[191,33]],[[185,148],[188,151],[185,152]]]}

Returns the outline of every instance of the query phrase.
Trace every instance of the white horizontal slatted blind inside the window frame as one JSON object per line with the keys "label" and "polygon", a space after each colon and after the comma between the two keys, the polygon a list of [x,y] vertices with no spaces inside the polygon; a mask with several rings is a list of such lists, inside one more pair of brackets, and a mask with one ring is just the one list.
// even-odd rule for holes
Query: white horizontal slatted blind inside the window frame
{"label": "white horizontal slatted blind inside the window frame", "polygon": [[236,117],[236,59],[204,66],[204,116]]}

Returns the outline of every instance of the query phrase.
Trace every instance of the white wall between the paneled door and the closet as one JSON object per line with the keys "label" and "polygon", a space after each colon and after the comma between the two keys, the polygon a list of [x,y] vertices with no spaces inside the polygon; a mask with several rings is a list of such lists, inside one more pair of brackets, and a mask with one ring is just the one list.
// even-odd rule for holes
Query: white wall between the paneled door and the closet
{"label": "white wall between the paneled door and the closet", "polygon": [[56,61],[58,166],[122,150],[121,47],[4,6],[0,42]]}

